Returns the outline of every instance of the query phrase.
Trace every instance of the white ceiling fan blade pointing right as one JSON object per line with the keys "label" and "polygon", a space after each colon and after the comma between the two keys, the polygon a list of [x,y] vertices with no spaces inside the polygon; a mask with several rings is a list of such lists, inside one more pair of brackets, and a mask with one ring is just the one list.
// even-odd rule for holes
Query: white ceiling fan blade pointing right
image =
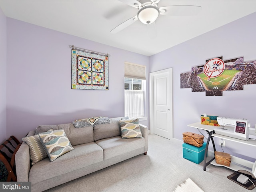
{"label": "white ceiling fan blade pointing right", "polygon": [[171,5],[160,7],[160,15],[193,16],[197,15],[202,7],[194,5]]}

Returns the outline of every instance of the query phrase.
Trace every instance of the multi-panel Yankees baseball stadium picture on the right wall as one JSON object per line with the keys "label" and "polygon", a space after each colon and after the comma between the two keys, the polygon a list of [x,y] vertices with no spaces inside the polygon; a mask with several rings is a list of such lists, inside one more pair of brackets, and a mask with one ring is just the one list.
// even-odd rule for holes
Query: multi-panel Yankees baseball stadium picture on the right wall
{"label": "multi-panel Yankees baseball stadium picture on the right wall", "polygon": [[244,62],[243,57],[206,60],[204,65],[192,67],[180,74],[180,88],[192,92],[206,92],[206,96],[222,96],[223,91],[243,90],[246,84],[256,84],[256,60]]}

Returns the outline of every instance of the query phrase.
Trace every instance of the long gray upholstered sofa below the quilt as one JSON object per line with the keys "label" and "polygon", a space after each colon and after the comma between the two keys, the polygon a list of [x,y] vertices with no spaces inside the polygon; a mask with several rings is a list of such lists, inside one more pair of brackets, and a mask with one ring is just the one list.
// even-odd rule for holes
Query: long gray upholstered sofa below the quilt
{"label": "long gray upholstered sofa below the quilt", "polygon": [[62,129],[74,150],[50,162],[49,158],[31,166],[29,146],[23,142],[16,153],[18,182],[31,182],[32,192],[40,192],[106,168],[148,151],[148,128],[140,124],[142,138],[122,139],[119,118],[109,124],[75,128],[72,123],[38,126],[27,136],[49,129]]}

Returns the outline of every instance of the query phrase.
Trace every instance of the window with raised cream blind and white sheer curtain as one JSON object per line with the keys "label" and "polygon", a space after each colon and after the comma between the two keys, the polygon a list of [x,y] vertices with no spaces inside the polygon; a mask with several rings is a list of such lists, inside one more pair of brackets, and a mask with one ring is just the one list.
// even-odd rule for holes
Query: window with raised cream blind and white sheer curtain
{"label": "window with raised cream blind and white sheer curtain", "polygon": [[145,111],[146,66],[125,62],[124,114],[129,118],[143,117]]}

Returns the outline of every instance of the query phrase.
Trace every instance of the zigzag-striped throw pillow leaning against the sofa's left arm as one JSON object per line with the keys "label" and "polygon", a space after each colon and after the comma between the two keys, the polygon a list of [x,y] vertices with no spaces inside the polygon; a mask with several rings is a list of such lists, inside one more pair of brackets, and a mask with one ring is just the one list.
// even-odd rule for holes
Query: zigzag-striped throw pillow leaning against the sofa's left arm
{"label": "zigzag-striped throw pillow leaning against the sofa's left arm", "polygon": [[[52,129],[48,131],[52,131]],[[47,152],[38,135],[24,137],[22,138],[22,141],[26,142],[29,146],[31,165],[34,165],[47,157]]]}

